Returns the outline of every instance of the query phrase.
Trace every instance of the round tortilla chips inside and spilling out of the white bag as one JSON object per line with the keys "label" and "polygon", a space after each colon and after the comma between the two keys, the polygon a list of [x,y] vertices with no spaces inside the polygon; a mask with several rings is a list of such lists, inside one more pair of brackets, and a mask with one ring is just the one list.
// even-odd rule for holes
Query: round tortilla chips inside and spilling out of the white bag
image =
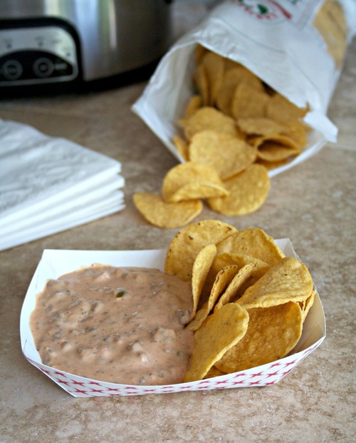
{"label": "round tortilla chips inside and spilling out of the white bag", "polygon": [[[298,108],[245,66],[203,46],[197,46],[195,61],[196,92],[177,122],[181,133],[173,138],[184,163],[165,175],[162,200],[152,204],[147,193],[134,198],[146,220],[162,228],[192,220],[193,215],[173,211],[174,203],[182,201],[204,200],[228,216],[258,210],[271,187],[268,170],[298,156],[308,140],[307,108]],[[171,205],[163,210],[163,203]]]}

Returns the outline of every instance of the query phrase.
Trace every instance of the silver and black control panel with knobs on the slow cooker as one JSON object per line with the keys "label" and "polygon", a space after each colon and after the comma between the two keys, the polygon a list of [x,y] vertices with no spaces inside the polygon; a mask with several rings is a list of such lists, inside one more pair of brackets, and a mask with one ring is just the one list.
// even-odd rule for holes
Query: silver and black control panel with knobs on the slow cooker
{"label": "silver and black control panel with knobs on the slow cooker", "polygon": [[73,81],[77,76],[77,49],[66,29],[0,29],[0,86]]}

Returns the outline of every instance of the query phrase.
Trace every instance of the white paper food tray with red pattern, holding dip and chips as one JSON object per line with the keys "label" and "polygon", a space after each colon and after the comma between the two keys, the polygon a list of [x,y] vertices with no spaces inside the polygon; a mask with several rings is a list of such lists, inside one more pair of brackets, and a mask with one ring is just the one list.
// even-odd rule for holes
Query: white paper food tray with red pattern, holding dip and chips
{"label": "white paper food tray with red pattern, holding dip and chips", "polygon": [[[286,257],[297,258],[290,240],[275,240],[276,245]],[[229,389],[236,387],[262,387],[278,383],[288,372],[298,365],[310,352],[313,352],[325,338],[325,316],[318,292],[303,323],[303,332],[294,349],[286,357],[266,365],[233,372],[225,375],[204,378],[193,382],[176,385],[122,385],[100,380],[90,380],[70,374],[56,368],[43,365],[36,350],[30,329],[30,316],[36,305],[38,295],[48,279],[56,279],[60,275],[103,263],[117,267],[146,267],[164,270],[167,250],[44,250],[38,263],[23,302],[20,320],[21,348],[28,362],[37,367],[44,375],[74,397],[115,397],[143,394],[164,394],[167,392],[185,392],[195,390]],[[232,303],[231,303],[232,304]],[[219,373],[217,371],[216,373]],[[212,374],[211,372],[209,374]],[[209,375],[208,375],[209,377]]]}

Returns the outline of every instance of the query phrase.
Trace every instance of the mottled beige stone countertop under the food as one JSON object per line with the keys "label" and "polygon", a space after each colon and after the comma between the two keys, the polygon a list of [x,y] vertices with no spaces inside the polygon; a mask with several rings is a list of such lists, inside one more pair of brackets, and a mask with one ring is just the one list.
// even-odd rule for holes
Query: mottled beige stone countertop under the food
{"label": "mottled beige stone countertop under the food", "polygon": [[356,40],[330,103],[340,133],[318,155],[273,178],[256,213],[219,218],[288,237],[323,302],[327,337],[277,385],[75,399],[23,357],[19,316],[43,249],[155,249],[177,230],[152,227],[132,204],[159,192],[177,162],[130,111],[145,83],[83,96],[0,101],[0,118],[31,124],[122,163],[127,207],[0,253],[0,442],[355,442]]}

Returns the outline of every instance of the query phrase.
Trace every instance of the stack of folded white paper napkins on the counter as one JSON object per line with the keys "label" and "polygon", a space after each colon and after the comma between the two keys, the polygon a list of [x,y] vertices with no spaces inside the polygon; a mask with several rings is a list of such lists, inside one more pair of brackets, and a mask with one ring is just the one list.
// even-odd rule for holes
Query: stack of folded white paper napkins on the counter
{"label": "stack of folded white paper napkins on the counter", "polygon": [[125,207],[121,164],[0,119],[0,250]]}

